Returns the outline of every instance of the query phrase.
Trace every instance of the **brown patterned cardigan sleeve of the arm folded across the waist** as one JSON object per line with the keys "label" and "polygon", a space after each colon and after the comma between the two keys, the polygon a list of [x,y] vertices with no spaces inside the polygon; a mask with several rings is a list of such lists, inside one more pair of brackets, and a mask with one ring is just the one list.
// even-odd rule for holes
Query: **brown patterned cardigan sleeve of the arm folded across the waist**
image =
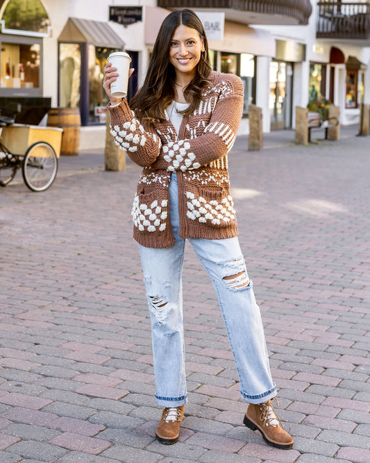
{"label": "brown patterned cardigan sleeve of the arm folded across the waist", "polygon": [[244,88],[242,80],[229,75],[213,108],[208,125],[200,136],[162,145],[153,170],[194,170],[224,157],[233,147],[242,118]]}

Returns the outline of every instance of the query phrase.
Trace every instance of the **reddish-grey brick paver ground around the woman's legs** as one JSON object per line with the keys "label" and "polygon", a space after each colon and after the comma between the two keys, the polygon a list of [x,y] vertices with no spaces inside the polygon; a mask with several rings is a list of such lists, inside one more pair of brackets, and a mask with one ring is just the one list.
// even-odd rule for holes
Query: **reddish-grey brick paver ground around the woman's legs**
{"label": "reddish-grey brick paver ground around the woman's legs", "polygon": [[[131,203],[140,168],[62,158],[55,184],[0,190],[0,461],[369,462],[370,152],[354,133],[262,152],[238,138],[230,177],[278,409],[294,449],[242,425],[217,300],[190,246],[190,402],[154,439],[151,339]],[[269,143],[270,140],[270,143]]]}

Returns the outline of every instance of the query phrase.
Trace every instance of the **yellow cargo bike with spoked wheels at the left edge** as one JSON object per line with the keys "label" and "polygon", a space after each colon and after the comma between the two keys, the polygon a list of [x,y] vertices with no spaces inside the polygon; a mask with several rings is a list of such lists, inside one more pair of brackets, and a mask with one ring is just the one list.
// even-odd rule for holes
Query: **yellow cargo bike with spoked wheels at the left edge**
{"label": "yellow cargo bike with spoked wheels at the left edge", "polygon": [[[61,133],[62,129],[15,124],[13,117],[0,115],[0,186],[8,185],[22,169],[24,183],[30,190],[47,190],[58,172],[54,148],[59,154]],[[49,143],[51,138],[54,147]]]}

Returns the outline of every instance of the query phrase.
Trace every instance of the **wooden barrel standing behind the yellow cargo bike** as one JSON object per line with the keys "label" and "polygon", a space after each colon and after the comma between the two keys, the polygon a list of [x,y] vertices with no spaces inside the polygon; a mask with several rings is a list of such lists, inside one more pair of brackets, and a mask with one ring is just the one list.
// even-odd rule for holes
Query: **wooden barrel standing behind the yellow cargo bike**
{"label": "wooden barrel standing behind the yellow cargo bike", "polygon": [[48,111],[49,127],[63,129],[60,154],[76,156],[80,145],[81,117],[78,108],[51,108]]}

